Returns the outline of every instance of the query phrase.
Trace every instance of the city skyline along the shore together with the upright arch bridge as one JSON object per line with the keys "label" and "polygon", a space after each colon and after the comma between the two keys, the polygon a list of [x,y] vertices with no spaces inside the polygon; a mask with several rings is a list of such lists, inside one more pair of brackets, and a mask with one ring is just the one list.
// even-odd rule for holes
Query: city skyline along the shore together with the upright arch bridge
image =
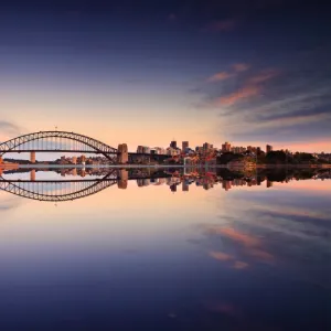
{"label": "city skyline along the shore together with the upright arch bridge", "polygon": [[[179,147],[180,145],[182,148]],[[330,163],[331,157],[331,153],[328,152],[309,153],[307,151],[291,151],[289,149],[274,150],[274,147],[269,143],[266,143],[264,149],[260,146],[233,146],[228,141],[225,141],[220,147],[210,142],[192,147],[188,140],[181,143],[178,143],[177,140],[171,140],[169,147],[138,146],[136,151],[130,151],[127,143],[119,143],[118,148],[114,148],[81,134],[58,130],[39,131],[15,137],[0,143],[0,164],[3,161],[18,161],[20,163],[21,160],[25,162],[24,159],[29,158],[30,161],[28,162],[31,163],[85,164],[86,161],[86,163],[95,166],[111,163],[160,164],[169,161],[186,164],[186,160],[193,163],[207,162],[209,164],[211,162],[214,164],[217,162],[221,164],[232,164],[232,161],[234,161],[238,166],[238,158],[244,158],[246,166],[252,162],[257,164],[265,162],[301,163],[302,161],[311,164],[316,162]],[[19,159],[13,157],[17,153],[20,154]],[[72,154],[72,157],[67,157],[67,153]],[[85,153],[98,157],[86,157]],[[228,158],[226,153],[231,153],[233,157],[228,156],[231,157]],[[39,156],[36,157],[36,154]],[[56,156],[61,157],[56,158]],[[239,163],[242,164],[243,162],[241,161]]]}

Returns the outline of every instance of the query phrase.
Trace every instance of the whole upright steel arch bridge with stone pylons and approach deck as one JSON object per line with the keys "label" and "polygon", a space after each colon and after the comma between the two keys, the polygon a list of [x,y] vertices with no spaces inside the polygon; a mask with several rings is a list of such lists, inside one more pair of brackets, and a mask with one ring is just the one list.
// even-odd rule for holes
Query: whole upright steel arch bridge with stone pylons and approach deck
{"label": "whole upright steel arch bridge with stone pylons and approach deck", "polygon": [[36,152],[94,153],[106,157],[110,164],[126,164],[137,158],[164,160],[167,156],[151,156],[128,152],[126,143],[114,148],[90,137],[67,131],[40,131],[23,135],[0,143],[0,157],[6,153],[30,153],[31,163],[36,161]]}

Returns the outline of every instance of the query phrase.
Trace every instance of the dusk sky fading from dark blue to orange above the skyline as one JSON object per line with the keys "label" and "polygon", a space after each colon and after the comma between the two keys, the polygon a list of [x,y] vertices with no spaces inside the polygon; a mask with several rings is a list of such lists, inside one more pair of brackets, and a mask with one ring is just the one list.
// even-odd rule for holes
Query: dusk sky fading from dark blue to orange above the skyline
{"label": "dusk sky fading from dark blue to orange above the skyline", "polygon": [[1,1],[0,141],[331,152],[330,11],[301,2]]}

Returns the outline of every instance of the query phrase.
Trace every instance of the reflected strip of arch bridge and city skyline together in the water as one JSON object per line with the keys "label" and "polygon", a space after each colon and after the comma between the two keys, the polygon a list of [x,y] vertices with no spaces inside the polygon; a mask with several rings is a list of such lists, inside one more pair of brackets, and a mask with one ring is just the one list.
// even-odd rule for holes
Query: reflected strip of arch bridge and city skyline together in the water
{"label": "reflected strip of arch bridge and city skyline together in the water", "polygon": [[[55,178],[53,179],[53,177]],[[273,188],[275,181],[287,183],[300,179],[330,179],[330,170],[261,170],[259,173],[231,172],[227,169],[19,169],[3,171],[0,190],[38,201],[64,202],[96,194],[117,185],[127,189],[128,181],[138,186],[170,186],[171,192],[189,191],[191,184],[205,190],[221,184],[225,191],[232,188],[255,186],[266,183]]]}

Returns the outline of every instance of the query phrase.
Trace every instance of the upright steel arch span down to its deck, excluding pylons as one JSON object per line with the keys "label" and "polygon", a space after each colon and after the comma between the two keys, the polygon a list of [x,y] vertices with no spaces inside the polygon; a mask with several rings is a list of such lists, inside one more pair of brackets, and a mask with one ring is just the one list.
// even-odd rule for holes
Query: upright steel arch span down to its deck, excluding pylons
{"label": "upright steel arch span down to its deck, excluding pylons", "polygon": [[0,157],[8,152],[84,152],[104,154],[117,162],[118,150],[99,140],[67,131],[40,131],[0,143]]}

